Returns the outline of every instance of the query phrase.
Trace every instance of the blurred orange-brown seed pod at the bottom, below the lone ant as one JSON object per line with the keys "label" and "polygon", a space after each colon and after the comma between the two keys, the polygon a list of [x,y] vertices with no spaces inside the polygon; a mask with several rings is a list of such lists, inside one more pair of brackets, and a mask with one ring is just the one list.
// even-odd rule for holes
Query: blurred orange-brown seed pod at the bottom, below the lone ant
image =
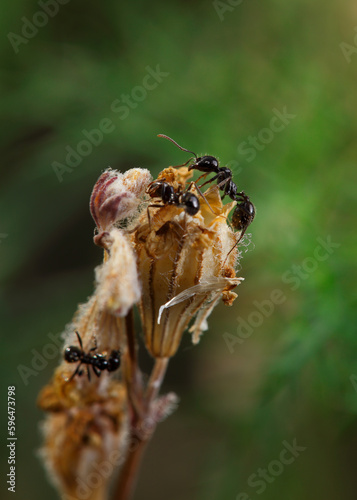
{"label": "blurred orange-brown seed pod at the bottom, below the lone ant", "polygon": [[63,392],[61,377],[55,377],[42,390],[39,406],[50,412],[42,424],[40,455],[62,497],[106,498],[108,480],[128,444],[124,386],[112,381],[101,395],[83,398],[75,386]]}

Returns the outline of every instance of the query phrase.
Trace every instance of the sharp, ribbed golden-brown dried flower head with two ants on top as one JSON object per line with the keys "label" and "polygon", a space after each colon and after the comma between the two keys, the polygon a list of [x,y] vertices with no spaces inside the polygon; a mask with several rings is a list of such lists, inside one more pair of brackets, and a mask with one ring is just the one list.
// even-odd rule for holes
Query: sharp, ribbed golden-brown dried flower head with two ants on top
{"label": "sharp, ribbed golden-brown dried flower head with two ants on top", "polygon": [[[186,186],[187,168],[165,169],[176,191]],[[192,187],[192,190],[195,188]],[[217,186],[200,197],[200,211],[187,215],[182,206],[166,204],[148,218],[143,213],[133,236],[142,283],[140,314],[147,349],[154,357],[173,356],[190,320],[194,342],[220,298],[231,305],[240,283],[234,263],[236,236],[227,224],[235,202],[222,205]]]}

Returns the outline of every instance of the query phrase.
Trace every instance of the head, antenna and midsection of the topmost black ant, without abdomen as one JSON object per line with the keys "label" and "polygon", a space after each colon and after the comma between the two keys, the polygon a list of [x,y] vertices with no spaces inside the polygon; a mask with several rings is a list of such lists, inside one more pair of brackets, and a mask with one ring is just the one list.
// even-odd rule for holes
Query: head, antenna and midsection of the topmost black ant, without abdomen
{"label": "head, antenna and midsection of the topmost black ant, without abdomen", "polygon": [[[196,153],[193,151],[189,151],[186,148],[183,148],[179,144],[177,144],[176,141],[171,139],[171,137],[168,137],[167,135],[164,134],[158,134],[158,137],[163,137],[164,139],[168,139],[171,141],[175,146],[177,146],[179,149],[182,151],[186,151],[187,153],[193,154],[195,157],[194,163],[188,167],[189,170],[199,170],[200,172],[204,172],[203,175],[201,175],[197,181],[202,179],[202,177],[205,177],[208,174],[215,173],[216,175],[213,176],[211,179],[209,179],[207,182],[203,183],[200,188],[205,186],[206,184],[210,184],[211,182],[214,182],[215,180],[217,181],[217,185],[221,191],[224,191],[224,195],[222,199],[228,195],[232,200],[236,201],[236,195],[238,188],[235,185],[235,183],[232,180],[232,171],[228,167],[220,167],[217,158],[214,156],[200,156],[198,157]],[[189,159],[186,163],[183,165],[186,165],[191,159]],[[196,182],[197,182],[196,181]],[[200,193],[201,194],[201,193]]]}

